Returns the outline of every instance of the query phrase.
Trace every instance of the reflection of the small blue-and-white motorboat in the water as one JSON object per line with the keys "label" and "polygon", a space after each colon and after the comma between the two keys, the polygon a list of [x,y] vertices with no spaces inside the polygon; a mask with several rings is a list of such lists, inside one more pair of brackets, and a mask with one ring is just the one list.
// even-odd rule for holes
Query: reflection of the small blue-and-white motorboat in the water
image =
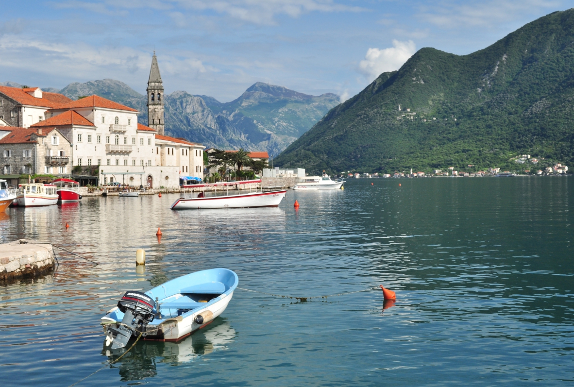
{"label": "reflection of the small blue-and-white motorboat in the water", "polygon": [[[180,343],[139,341],[124,357],[110,368],[118,368],[122,381],[142,380],[157,376],[156,366],[161,363],[175,365],[187,363],[208,355],[215,350],[226,349],[235,339],[235,330],[225,318],[217,318],[209,326],[199,330]],[[131,344],[129,345],[131,346]],[[129,348],[129,346],[127,348]],[[102,350],[110,361],[118,359],[126,349]]]}

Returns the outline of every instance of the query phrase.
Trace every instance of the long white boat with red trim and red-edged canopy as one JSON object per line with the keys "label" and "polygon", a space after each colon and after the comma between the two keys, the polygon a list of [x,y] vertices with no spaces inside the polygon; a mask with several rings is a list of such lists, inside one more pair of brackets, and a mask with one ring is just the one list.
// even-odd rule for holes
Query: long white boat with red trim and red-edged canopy
{"label": "long white boat with red trim and red-edged canopy", "polygon": [[[241,186],[245,184],[250,184],[250,188],[243,188],[242,192]],[[184,190],[181,191],[180,198],[172,204],[171,208],[172,210],[205,210],[211,208],[277,207],[285,198],[286,189],[263,192],[262,188],[252,188],[253,184],[259,184],[259,188],[261,188],[261,179],[181,185]],[[204,187],[213,187],[214,192],[196,192],[197,189]],[[193,189],[186,192],[185,188]]]}

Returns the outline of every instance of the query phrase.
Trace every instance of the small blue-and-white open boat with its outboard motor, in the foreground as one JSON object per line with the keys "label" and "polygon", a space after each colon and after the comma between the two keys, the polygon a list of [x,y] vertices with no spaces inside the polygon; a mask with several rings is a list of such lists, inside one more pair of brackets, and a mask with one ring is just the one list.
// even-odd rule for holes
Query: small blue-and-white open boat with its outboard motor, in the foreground
{"label": "small blue-and-white open boat with its outboard motor, in the foreground", "polygon": [[127,291],[101,319],[106,346],[125,347],[132,336],[177,342],[223,313],[239,279],[217,268],[174,278],[145,293]]}

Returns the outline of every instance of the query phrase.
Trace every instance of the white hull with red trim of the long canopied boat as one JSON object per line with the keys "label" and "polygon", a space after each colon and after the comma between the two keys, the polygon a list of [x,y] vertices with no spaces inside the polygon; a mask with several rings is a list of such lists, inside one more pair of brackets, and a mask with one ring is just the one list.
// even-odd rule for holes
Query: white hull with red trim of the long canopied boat
{"label": "white hull with red trim of the long canopied boat", "polygon": [[172,210],[206,210],[215,208],[277,207],[285,198],[286,189],[272,192],[253,192],[210,198],[177,199]]}

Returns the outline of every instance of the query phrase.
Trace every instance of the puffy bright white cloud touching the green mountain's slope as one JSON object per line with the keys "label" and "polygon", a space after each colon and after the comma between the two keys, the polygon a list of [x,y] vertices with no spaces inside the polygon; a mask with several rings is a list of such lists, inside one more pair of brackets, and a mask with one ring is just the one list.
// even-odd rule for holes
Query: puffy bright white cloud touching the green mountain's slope
{"label": "puffy bright white cloud touching the green mountain's slope", "polygon": [[371,82],[383,72],[398,70],[416,51],[412,40],[402,42],[394,39],[393,47],[369,48],[359,63],[359,71]]}

